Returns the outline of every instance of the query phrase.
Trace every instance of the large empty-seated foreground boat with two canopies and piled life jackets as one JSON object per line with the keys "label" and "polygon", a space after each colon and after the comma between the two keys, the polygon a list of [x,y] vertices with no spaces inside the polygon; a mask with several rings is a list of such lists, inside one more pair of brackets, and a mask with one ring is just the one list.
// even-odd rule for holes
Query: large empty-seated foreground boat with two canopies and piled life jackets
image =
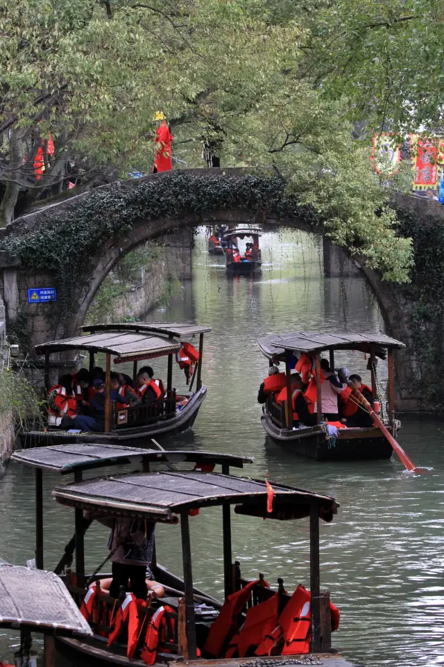
{"label": "large empty-seated foreground boat with two canopies and piled life jackets", "polygon": [[[255,667],[268,667],[268,654],[256,655],[258,641],[268,642],[267,632],[270,623],[275,623],[271,648],[273,664],[284,666],[302,659],[307,664],[309,654],[316,656],[316,664],[326,667],[351,667],[341,654],[331,647],[331,632],[339,623],[339,612],[330,603],[330,593],[321,593],[320,580],[320,543],[319,527],[321,521],[330,522],[339,507],[334,497],[312,493],[292,486],[270,483],[251,477],[239,477],[230,474],[230,468],[243,468],[253,463],[253,459],[230,454],[211,452],[168,452],[165,450],[145,450],[136,447],[111,447],[110,445],[56,445],[15,452],[12,456],[35,468],[36,479],[36,564],[43,566],[43,512],[42,488],[43,472],[49,471],[62,475],[74,473],[74,481],[58,484],[53,489],[56,502],[74,509],[75,532],[70,543],[65,547],[62,558],[55,568],[65,582],[74,600],[80,607],[85,596],[87,600],[94,595],[92,607],[88,611],[89,623],[93,636],[73,639],[60,637],[56,646],[69,659],[80,661],[94,659],[102,663],[144,667],[148,662],[142,659],[142,649],[146,637],[153,639],[152,624],[160,614],[164,616],[162,632],[158,643],[151,645],[149,664],[176,664],[186,661],[187,665],[227,666],[247,664],[254,657]],[[133,462],[137,471],[121,472],[116,475],[101,477],[102,466],[121,466]],[[215,466],[221,466],[221,472],[214,472]],[[165,469],[167,468],[167,469]],[[83,473],[87,472],[87,479]],[[94,473],[97,475],[94,477]],[[223,579],[225,601],[222,602],[212,593],[205,593],[194,586],[196,573],[192,565],[189,525],[198,513],[205,513],[207,508],[222,509]],[[248,516],[257,520],[258,527],[266,520],[309,519],[310,575],[307,591],[301,585],[295,593],[287,593],[283,579],[278,579],[278,586],[272,587],[264,574],[249,580],[241,576],[239,562],[232,562],[231,519],[234,514]],[[137,603],[137,648],[132,659],[127,657],[127,638],[125,632],[117,641],[108,645],[108,636],[115,628],[114,619],[123,604],[131,603],[131,596],[121,592],[119,600],[111,598],[101,588],[101,581],[110,577],[101,573],[103,563],[91,574],[85,573],[85,532],[94,527],[94,522],[85,519],[85,512],[102,513],[104,517],[118,516],[141,518],[150,522],[162,522],[167,526],[180,523],[182,541],[182,575],[174,575],[159,563],[159,553],[154,549],[151,570],[155,582],[164,587],[164,597],[152,602]],[[175,532],[176,535],[176,532]],[[177,540],[177,536],[174,537]],[[69,569],[76,550],[75,572]],[[51,545],[53,548],[53,544]],[[194,545],[196,548],[196,545]],[[61,550],[62,551],[62,550]],[[302,604],[302,600],[305,600]],[[230,613],[234,599],[238,600],[239,611],[235,616]],[[295,605],[300,605],[295,614]],[[261,606],[262,605],[262,606]],[[287,614],[285,609],[287,608]],[[248,607],[248,609],[247,609]],[[272,607],[271,616],[270,607]],[[86,603],[83,607],[84,611]],[[230,634],[226,626],[227,614],[232,616],[233,625]],[[252,615],[265,616],[266,625],[259,627],[259,639],[254,645],[241,646],[241,625]],[[287,654],[282,655],[282,626],[284,616],[293,622],[294,616],[300,616],[298,636]],[[225,619],[225,620],[224,620]],[[296,619],[295,619],[296,620]],[[285,627],[285,626],[284,626]],[[294,626],[292,626],[294,629]],[[268,631],[266,630],[268,628]],[[238,631],[238,635],[234,632]],[[223,634],[225,632],[225,634]],[[287,632],[287,631],[286,631]],[[222,641],[221,641],[222,633]],[[234,636],[233,636],[234,635]],[[132,634],[133,638],[135,634]],[[296,636],[296,635],[295,635]],[[225,643],[223,639],[225,637]],[[219,642],[214,648],[214,639]],[[226,648],[228,640],[232,646]],[[238,641],[237,644],[233,642]],[[234,648],[233,648],[234,647]],[[133,647],[134,648],[134,647]],[[288,647],[287,647],[288,648]],[[227,657],[230,653],[230,658]],[[239,657],[237,657],[239,654]],[[300,664],[300,663],[298,663]],[[310,664],[310,663],[308,663]]]}

